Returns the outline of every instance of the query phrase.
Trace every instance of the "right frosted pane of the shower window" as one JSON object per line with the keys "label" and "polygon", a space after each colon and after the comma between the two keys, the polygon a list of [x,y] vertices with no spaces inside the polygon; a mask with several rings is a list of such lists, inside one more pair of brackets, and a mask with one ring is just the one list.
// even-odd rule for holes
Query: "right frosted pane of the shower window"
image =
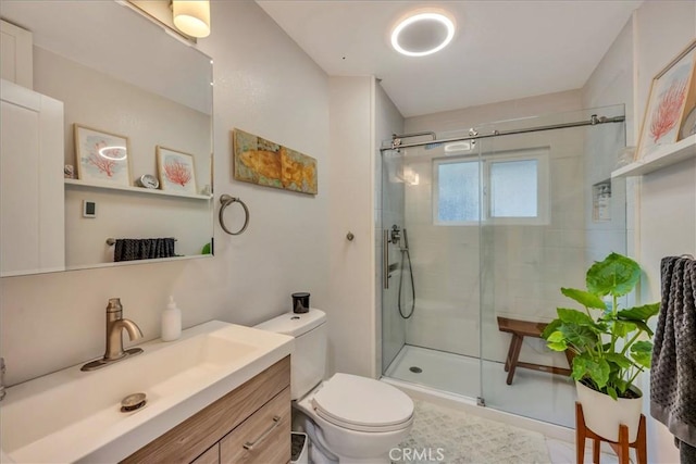
{"label": "right frosted pane of the shower window", "polygon": [[536,217],[538,161],[490,163],[490,217]]}

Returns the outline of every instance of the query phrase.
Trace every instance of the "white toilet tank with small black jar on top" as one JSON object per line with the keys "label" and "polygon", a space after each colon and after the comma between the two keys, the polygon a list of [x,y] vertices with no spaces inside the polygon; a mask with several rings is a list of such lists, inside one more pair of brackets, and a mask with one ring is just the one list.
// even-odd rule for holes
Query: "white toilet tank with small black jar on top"
{"label": "white toilet tank with small black jar on top", "polygon": [[324,379],[326,372],[326,314],[316,309],[307,313],[286,313],[256,328],[295,337],[290,356],[290,394],[302,398]]}

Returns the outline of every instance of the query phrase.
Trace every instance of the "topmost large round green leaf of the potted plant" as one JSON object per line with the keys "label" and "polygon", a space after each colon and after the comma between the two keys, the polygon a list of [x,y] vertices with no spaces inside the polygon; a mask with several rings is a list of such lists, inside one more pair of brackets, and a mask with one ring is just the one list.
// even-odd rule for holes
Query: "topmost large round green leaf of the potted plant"
{"label": "topmost large round green leaf of the potted plant", "polygon": [[621,297],[629,293],[641,278],[641,266],[630,258],[610,253],[587,271],[587,290],[598,296]]}

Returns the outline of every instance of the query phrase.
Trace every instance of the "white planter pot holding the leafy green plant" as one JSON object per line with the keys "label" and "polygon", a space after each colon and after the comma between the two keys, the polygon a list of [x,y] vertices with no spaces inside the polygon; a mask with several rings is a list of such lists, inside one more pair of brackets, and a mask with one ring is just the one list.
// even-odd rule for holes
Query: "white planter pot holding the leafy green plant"
{"label": "white planter pot holding the leafy green plant", "polygon": [[634,388],[641,398],[614,400],[608,394],[585,387],[580,381],[575,381],[575,388],[577,389],[577,401],[583,405],[587,428],[607,440],[618,442],[619,426],[624,424],[629,427],[629,442],[635,441],[643,411],[643,392],[641,390]]}

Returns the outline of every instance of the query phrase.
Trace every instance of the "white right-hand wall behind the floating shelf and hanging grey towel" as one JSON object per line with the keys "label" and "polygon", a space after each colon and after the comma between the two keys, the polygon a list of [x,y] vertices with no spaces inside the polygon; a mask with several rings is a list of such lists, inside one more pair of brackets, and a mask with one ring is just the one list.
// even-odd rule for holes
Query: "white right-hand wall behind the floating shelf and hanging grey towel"
{"label": "white right-hand wall behind the floating shelf and hanging grey towel", "polygon": [[[696,3],[644,2],[588,80],[584,101],[625,101],[627,145],[635,146],[652,77],[695,37]],[[638,300],[659,301],[660,260],[696,254],[696,160],[627,184],[629,249],[645,271]],[[643,380],[648,462],[678,463],[673,437],[649,415],[648,376]]]}

